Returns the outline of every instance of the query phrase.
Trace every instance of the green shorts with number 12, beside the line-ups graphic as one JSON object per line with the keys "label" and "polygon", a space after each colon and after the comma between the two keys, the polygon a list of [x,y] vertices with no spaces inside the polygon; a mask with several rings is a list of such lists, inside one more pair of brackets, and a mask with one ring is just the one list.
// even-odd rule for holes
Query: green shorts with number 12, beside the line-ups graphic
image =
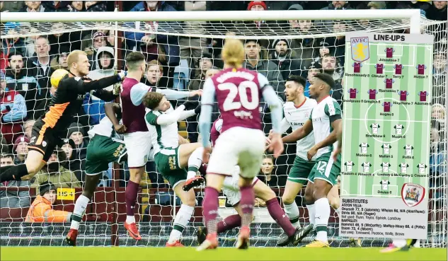
{"label": "green shorts with number 12, beside the line-ups graphic", "polygon": [[331,185],[338,184],[338,176],[340,175],[340,154],[337,161],[333,161],[331,152],[322,154],[314,164],[311,173],[309,173],[309,181],[325,180]]}

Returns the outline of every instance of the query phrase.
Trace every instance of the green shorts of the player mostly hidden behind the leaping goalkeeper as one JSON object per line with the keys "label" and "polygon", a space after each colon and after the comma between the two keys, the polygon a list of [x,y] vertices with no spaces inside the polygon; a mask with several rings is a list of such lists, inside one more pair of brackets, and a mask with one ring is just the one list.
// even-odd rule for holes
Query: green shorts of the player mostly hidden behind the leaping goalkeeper
{"label": "green shorts of the player mostly hidden behind the leaping goalkeeper", "polygon": [[93,136],[87,145],[86,175],[98,175],[108,170],[109,163],[121,163],[126,154],[124,143],[102,135]]}

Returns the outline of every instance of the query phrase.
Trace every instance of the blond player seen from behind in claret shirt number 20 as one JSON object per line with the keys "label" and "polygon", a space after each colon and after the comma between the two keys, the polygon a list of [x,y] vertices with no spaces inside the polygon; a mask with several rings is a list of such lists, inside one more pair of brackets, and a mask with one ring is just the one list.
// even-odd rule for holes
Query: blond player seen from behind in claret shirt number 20
{"label": "blond player seen from behind in claret shirt number 20", "polygon": [[[277,98],[268,79],[256,71],[242,69],[244,47],[239,40],[226,40],[222,58],[224,70],[207,79],[202,95],[202,113],[199,127],[202,137],[209,137],[212,105],[216,98],[223,120],[222,134],[217,139],[212,156],[207,167],[207,187],[202,204],[207,239],[197,248],[205,250],[217,248],[217,210],[218,195],[222,189],[224,178],[234,173],[239,165],[241,192],[241,230],[236,242],[237,248],[248,248],[248,240],[252,220],[255,195],[253,178],[258,174],[265,152],[265,135],[261,131],[260,99],[263,97],[270,105],[272,125],[275,134],[272,135],[271,148],[277,157],[283,151],[280,137],[280,120],[282,118],[282,103]],[[205,162],[211,146],[207,138],[202,139]]]}

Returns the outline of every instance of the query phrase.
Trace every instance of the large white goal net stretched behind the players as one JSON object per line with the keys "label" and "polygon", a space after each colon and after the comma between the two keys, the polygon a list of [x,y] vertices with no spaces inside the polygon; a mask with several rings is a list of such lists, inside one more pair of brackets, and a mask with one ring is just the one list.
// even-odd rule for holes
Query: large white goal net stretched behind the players
{"label": "large white goal net stretched behind the players", "polygon": [[[147,21],[149,15],[146,19],[143,18],[142,13],[146,12],[123,12],[121,15],[94,12],[82,15],[52,13],[48,16],[51,21],[45,21],[43,16],[25,18],[20,13],[9,13],[8,16],[2,13],[0,69],[6,75],[6,91],[9,96],[5,96],[1,104],[0,124],[4,141],[1,144],[1,164],[8,164],[9,161],[18,164],[26,158],[30,128],[33,121],[45,112],[54,92],[50,76],[54,69],[67,68],[67,54],[71,50],[84,50],[88,54],[91,79],[99,79],[125,69],[126,54],[137,50],[145,55],[149,63],[142,82],[159,88],[193,91],[202,88],[207,70],[222,69],[220,53],[223,42],[226,37],[234,37],[246,44],[246,54],[251,59],[245,63],[246,68],[266,75],[280,98],[284,99],[285,81],[289,75],[301,75],[310,79],[317,72],[323,71],[335,79],[338,88],[333,90],[332,96],[343,107],[345,33],[409,33],[410,30],[417,33],[415,18],[404,18],[396,13],[397,18],[385,18],[383,15],[375,18],[375,13],[365,11],[365,16],[357,14],[357,18],[363,18],[358,20],[349,16],[343,18],[340,11],[323,12],[328,16],[318,19],[316,16],[311,19],[305,11],[297,13],[294,16],[296,18],[293,18],[290,12],[267,11],[265,18],[259,19],[248,11],[237,12],[233,18],[223,16],[223,12],[207,12],[207,15],[204,12],[184,12],[182,15],[177,13],[176,16],[156,12],[151,14],[152,21]],[[239,14],[242,15],[240,18]],[[353,16],[349,11],[348,14]],[[33,17],[36,19],[33,20]],[[197,19],[201,20],[195,21]],[[140,22],[134,22],[136,20]],[[411,28],[413,23],[414,27]],[[434,64],[431,65],[434,70],[434,95],[429,224],[427,240],[421,246],[446,248],[448,194],[447,132],[444,122],[447,106],[447,23],[418,17],[417,27],[419,33],[435,35]],[[160,68],[154,64],[159,64]],[[2,88],[3,84],[2,82]],[[306,90],[308,85],[309,83]],[[173,100],[173,104],[176,104],[176,100]],[[87,94],[83,108],[73,118],[73,124],[67,130],[67,141],[60,147],[60,151],[67,155],[56,154],[53,161],[32,182],[1,184],[0,245],[64,244],[63,238],[69,231],[69,223],[57,220],[30,223],[25,217],[29,211],[33,211],[30,204],[40,195],[39,185],[46,180],[62,187],[58,190],[53,209],[73,211],[74,200],[81,195],[81,187],[85,181],[88,130],[105,117],[103,105],[102,100]],[[260,111],[263,112],[263,129],[268,133],[271,128],[270,112],[265,105]],[[192,142],[201,139],[195,117],[180,122],[179,130],[181,136]],[[272,171],[269,168],[265,173],[260,170],[260,176],[272,187],[279,200],[295,153],[295,145],[287,144],[285,154],[277,158]],[[110,169],[103,173],[100,187],[86,209],[86,216],[79,229],[78,245],[163,246],[166,243],[180,199],[173,195],[166,180],[157,173],[154,163],[149,162],[147,175],[140,184],[138,207],[135,209],[143,240],[136,242],[127,236],[123,227],[126,216],[125,186],[128,180],[127,164],[110,163]],[[197,227],[203,226],[200,207],[203,190],[196,189],[195,192],[197,207],[194,218],[183,232],[184,245],[195,245]],[[304,190],[296,198],[302,226],[309,222],[303,195]],[[282,230],[272,221],[268,210],[263,206],[263,202],[260,202],[255,209],[251,245],[275,246]],[[227,206],[220,208],[219,213],[224,217],[234,214],[234,211]],[[338,228],[338,214],[332,209],[328,227],[331,245],[346,247],[349,240],[338,235]],[[234,228],[223,234],[222,244],[233,245],[237,233],[238,230]],[[303,243],[309,243],[310,240],[311,235]],[[362,238],[364,247],[385,246],[389,242],[377,238]]]}

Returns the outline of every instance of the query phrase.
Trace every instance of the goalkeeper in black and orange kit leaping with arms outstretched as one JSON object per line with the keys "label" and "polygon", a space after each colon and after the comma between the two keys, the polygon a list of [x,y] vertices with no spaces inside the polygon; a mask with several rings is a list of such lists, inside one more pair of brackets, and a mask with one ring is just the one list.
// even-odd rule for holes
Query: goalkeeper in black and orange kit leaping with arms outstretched
{"label": "goalkeeper in black and orange kit leaping with arms outstretched", "polygon": [[90,64],[86,53],[79,50],[69,54],[67,64],[69,65],[68,74],[58,72],[52,77],[52,82],[57,84],[57,91],[52,96],[45,115],[42,115],[33,125],[25,164],[1,167],[0,182],[30,180],[45,166],[56,146],[61,144],[62,139],[67,135],[67,127],[71,124],[74,114],[80,110],[87,92],[97,90],[93,92],[93,95],[105,101],[111,101],[117,97],[113,91],[101,89],[122,81],[125,77],[124,73],[97,81],[87,79]]}

